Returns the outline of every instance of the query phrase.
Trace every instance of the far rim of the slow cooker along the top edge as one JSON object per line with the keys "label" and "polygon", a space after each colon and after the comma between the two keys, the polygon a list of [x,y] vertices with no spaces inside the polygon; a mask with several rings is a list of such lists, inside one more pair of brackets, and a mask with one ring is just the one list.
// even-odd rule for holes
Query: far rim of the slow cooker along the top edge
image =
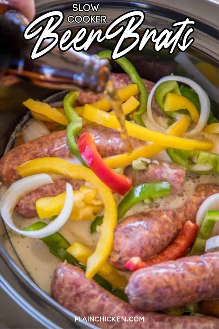
{"label": "far rim of the slow cooker along the top edge", "polygon": [[[198,14],[195,14],[194,12],[188,13],[185,8],[187,5],[185,4],[187,2],[190,2],[189,0],[184,0],[183,6],[181,4],[181,1],[175,1],[175,0],[168,0],[168,5],[166,5],[166,1],[157,0],[157,1],[133,1],[133,0],[99,0],[99,1],[93,1],[93,0],[82,0],[82,1],[75,1],[74,3],[77,4],[100,4],[100,7],[104,6],[105,8],[122,8],[125,10],[133,10],[133,9],[139,9],[144,11],[145,13],[152,13],[156,14],[162,17],[168,17],[172,19],[173,21],[178,21],[185,19],[185,16],[188,16],[191,19],[195,19],[196,21],[196,29],[200,30],[201,32],[204,32],[211,36],[212,38],[218,39],[218,10],[219,10],[219,4],[218,2],[215,2],[213,0],[193,0],[194,9],[195,8],[203,8],[204,14],[203,16],[198,16]],[[48,12],[48,8],[50,11],[52,10],[62,10],[62,11],[69,11],[70,10],[70,4],[72,4],[72,1],[65,1],[60,4],[59,1],[49,1],[46,2],[43,1],[42,4],[40,4],[41,1],[39,1],[39,4],[36,5],[37,9],[37,16],[42,15],[43,13]],[[206,4],[207,7],[206,8]],[[205,7],[205,8],[204,8]],[[199,12],[200,13],[200,12]],[[212,17],[212,14],[214,15]],[[209,16],[210,15],[210,16]],[[210,17],[211,19],[207,19],[207,17]]]}

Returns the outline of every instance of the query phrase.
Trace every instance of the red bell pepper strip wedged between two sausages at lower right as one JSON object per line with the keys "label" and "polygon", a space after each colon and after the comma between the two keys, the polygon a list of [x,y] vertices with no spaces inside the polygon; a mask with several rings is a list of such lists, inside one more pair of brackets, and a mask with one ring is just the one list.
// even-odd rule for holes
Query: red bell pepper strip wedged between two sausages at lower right
{"label": "red bell pepper strip wedged between two sausages at lower right", "polygon": [[132,257],[126,262],[125,267],[130,271],[136,271],[142,267],[152,266],[182,257],[195,240],[198,228],[196,223],[187,220],[176,239],[160,252],[160,254],[147,259],[145,262],[140,257]]}

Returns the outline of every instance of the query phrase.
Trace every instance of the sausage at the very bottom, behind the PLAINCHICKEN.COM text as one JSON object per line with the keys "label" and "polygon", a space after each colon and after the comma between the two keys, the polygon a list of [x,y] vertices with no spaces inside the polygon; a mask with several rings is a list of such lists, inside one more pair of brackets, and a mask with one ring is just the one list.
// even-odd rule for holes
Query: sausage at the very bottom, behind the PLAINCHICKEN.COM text
{"label": "sausage at the very bottom, behind the PLAINCHICKEN.COM text", "polygon": [[136,311],[94,280],[86,279],[80,268],[67,263],[56,268],[51,291],[59,304],[100,328],[218,328],[218,320],[213,317],[167,316]]}

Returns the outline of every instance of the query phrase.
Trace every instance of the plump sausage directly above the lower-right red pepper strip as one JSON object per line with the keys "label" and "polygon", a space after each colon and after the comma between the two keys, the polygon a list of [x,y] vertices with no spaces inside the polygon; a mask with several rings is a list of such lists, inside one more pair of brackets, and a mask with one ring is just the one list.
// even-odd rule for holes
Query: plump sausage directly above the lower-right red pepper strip
{"label": "plump sausage directly above the lower-right red pepper strip", "polygon": [[215,193],[218,186],[199,185],[190,200],[176,210],[151,210],[128,216],[115,229],[111,265],[127,270],[124,265],[131,257],[146,260],[161,252],[187,220],[195,220],[202,202]]}

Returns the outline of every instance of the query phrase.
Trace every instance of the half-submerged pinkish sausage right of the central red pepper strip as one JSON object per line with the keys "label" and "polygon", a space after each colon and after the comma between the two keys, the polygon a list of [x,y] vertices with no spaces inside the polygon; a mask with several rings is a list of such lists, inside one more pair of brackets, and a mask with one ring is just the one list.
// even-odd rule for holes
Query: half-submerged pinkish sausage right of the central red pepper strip
{"label": "half-submerged pinkish sausage right of the central red pepper strip", "polygon": [[168,181],[171,184],[172,194],[179,193],[185,183],[186,171],[175,164],[149,164],[147,169],[133,170],[129,165],[124,175],[132,179],[132,185],[137,186],[146,182]]}

